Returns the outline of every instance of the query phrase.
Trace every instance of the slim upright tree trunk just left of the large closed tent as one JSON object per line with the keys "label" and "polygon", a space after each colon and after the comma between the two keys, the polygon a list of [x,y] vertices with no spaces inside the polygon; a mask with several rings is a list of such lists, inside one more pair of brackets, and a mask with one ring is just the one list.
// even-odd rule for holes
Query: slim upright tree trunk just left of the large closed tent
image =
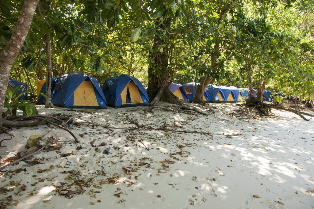
{"label": "slim upright tree trunk just left of the large closed tent", "polygon": [[51,44],[50,34],[45,35],[46,38],[46,56],[47,56],[47,72],[46,72],[46,108],[51,108]]}

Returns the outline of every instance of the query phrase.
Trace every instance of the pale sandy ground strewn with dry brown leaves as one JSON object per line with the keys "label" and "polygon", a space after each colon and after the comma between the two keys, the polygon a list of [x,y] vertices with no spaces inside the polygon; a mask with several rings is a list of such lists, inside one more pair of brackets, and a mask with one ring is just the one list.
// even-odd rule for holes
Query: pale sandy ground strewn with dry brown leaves
{"label": "pale sandy ground strewn with dry brown leaves", "polygon": [[[273,109],[275,116],[253,119],[237,114],[236,104],[194,105],[208,115],[166,111],[169,105],[76,111],[37,106],[42,114],[75,117],[79,124],[70,128],[80,144],[53,126],[14,128],[14,138],[0,147],[3,160],[14,156],[3,150],[23,156],[32,135],[50,130],[41,143],[51,136],[54,144],[64,144],[30,159],[42,164],[9,166],[0,177],[0,204],[23,209],[314,208],[314,119]],[[128,118],[170,130],[135,130]],[[107,144],[99,146],[102,142]],[[60,195],[76,190],[82,193]]]}

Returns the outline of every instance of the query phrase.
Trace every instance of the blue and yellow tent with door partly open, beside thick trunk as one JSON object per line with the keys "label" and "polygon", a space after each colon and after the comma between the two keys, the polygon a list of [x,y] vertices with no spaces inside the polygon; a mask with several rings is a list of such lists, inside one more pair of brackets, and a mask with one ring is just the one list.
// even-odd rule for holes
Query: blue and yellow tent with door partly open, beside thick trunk
{"label": "blue and yellow tent with door partly open, beside thick trunk", "polygon": [[106,79],[102,91],[108,105],[114,108],[149,106],[143,84],[138,79],[121,74]]}

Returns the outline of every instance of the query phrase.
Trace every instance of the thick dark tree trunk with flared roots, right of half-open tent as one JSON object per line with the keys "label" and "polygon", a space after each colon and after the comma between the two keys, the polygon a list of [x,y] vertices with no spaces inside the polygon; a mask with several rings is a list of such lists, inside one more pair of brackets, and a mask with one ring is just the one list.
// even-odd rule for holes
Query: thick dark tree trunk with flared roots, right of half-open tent
{"label": "thick dark tree trunk with flared roots, right of half-open tent", "polygon": [[[165,25],[160,25],[158,29],[164,30],[169,27],[171,18],[165,21]],[[163,47],[163,51],[160,53],[149,52],[149,58],[154,59],[154,66],[148,68],[148,89],[147,94],[150,99],[150,105],[156,105],[160,101],[165,101],[173,104],[181,104],[183,101],[171,93],[168,86],[169,81],[172,80],[172,74],[168,69],[168,52],[169,46],[163,46],[165,42],[161,36],[155,35],[154,45],[152,49],[159,51],[160,47]]]}

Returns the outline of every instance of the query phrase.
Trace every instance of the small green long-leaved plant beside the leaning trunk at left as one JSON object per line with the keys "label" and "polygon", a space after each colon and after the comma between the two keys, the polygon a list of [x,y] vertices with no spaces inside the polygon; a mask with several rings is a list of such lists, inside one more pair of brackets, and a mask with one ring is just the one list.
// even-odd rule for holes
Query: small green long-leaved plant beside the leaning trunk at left
{"label": "small green long-leaved plant beside the leaning trunk at left", "polygon": [[[19,91],[19,89],[22,87],[23,85],[20,85],[16,88],[14,88],[12,91],[7,88],[7,93],[5,95],[5,100],[4,100],[4,106],[8,108],[9,113],[11,113],[12,115],[16,115],[16,110],[22,110],[23,111],[23,115],[27,115],[30,116],[31,114],[38,114],[36,107],[28,100],[18,100],[18,98],[20,96],[22,96],[23,94],[26,93],[31,93],[31,92],[36,92],[36,91],[23,91],[21,92],[19,95],[17,95],[17,92]],[[48,99],[48,97],[43,94],[40,93],[43,97],[45,97],[46,99]],[[2,115],[3,116],[3,115]]]}

